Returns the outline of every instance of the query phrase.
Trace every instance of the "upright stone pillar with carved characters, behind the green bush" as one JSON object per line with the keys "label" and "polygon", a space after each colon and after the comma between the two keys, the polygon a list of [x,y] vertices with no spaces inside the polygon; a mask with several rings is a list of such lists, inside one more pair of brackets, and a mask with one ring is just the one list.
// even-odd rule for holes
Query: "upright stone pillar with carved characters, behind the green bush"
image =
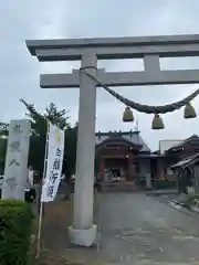
{"label": "upright stone pillar with carved characters, behind the green bush", "polygon": [[24,200],[30,131],[27,119],[10,121],[2,199]]}

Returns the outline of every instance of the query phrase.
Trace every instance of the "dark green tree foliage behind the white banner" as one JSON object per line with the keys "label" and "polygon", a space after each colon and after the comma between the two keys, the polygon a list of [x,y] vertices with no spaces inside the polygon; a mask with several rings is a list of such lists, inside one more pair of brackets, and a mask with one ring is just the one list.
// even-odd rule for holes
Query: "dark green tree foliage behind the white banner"
{"label": "dark green tree foliage behind the white banner", "polygon": [[[69,123],[66,110],[59,110],[53,103],[45,108],[44,114],[41,114],[33,104],[29,104],[22,98],[20,102],[25,106],[27,117],[31,123],[29,166],[42,177],[48,120],[50,120],[65,132],[63,172],[69,177],[75,169],[77,125],[72,127]],[[0,135],[8,135],[8,124],[0,123]]]}

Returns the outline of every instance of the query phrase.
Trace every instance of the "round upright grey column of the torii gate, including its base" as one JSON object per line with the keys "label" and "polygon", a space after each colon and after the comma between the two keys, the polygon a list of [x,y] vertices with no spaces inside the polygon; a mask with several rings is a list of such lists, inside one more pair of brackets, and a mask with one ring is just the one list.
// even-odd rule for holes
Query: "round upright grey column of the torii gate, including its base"
{"label": "round upright grey column of the torii gate, including its base", "polygon": [[[84,54],[81,67],[97,66],[95,54]],[[86,68],[95,76],[95,68]],[[75,172],[73,224],[69,227],[71,242],[91,246],[96,239],[97,227],[93,224],[94,157],[96,84],[80,72],[78,137]]]}

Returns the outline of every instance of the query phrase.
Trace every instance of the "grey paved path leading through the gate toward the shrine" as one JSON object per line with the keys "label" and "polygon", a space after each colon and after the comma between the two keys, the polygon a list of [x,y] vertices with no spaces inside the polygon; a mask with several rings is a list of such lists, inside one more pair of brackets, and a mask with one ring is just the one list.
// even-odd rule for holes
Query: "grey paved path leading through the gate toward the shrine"
{"label": "grey paved path leading through the gate toward the shrine", "polygon": [[197,219],[139,193],[100,201],[102,264],[199,264]]}

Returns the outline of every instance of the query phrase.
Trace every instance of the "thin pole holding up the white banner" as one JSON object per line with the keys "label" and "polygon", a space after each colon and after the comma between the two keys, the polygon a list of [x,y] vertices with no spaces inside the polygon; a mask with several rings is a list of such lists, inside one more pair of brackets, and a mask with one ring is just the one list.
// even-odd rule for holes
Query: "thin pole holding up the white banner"
{"label": "thin pole holding up the white banner", "polygon": [[41,250],[41,231],[42,231],[42,221],[43,221],[43,206],[44,206],[44,202],[42,202],[41,200],[41,195],[42,195],[42,187],[44,183],[44,179],[45,179],[45,174],[46,174],[46,166],[48,166],[48,148],[49,148],[49,120],[46,120],[48,123],[48,129],[46,129],[46,141],[45,141],[45,153],[44,153],[44,166],[43,166],[43,176],[42,176],[42,186],[40,189],[40,194],[39,194],[39,203],[40,203],[40,210],[39,210],[39,224],[38,224],[38,235],[36,235],[36,259],[40,257],[40,250]]}

